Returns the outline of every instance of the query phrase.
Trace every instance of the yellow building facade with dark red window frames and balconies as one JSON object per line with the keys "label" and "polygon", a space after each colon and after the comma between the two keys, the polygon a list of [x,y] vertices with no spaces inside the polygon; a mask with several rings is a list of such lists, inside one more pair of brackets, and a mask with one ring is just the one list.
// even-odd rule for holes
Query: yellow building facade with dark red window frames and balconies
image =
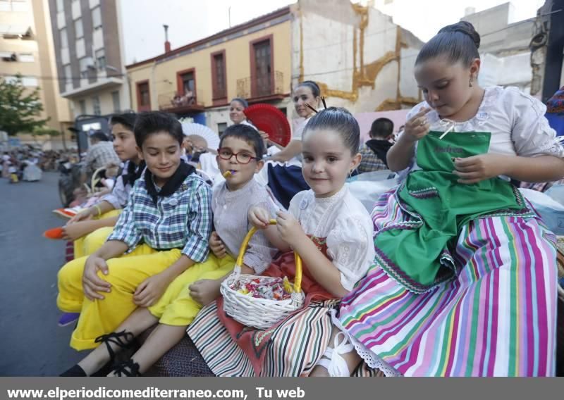
{"label": "yellow building facade with dark red window frames and balconies", "polygon": [[231,124],[233,97],[288,112],[290,8],[127,66],[132,106],[192,118],[216,132]]}

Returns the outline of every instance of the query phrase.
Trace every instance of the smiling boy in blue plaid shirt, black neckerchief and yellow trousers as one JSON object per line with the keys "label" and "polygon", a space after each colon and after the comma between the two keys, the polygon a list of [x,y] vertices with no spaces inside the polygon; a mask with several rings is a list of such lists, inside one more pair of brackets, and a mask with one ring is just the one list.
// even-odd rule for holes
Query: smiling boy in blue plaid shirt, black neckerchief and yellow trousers
{"label": "smiling boy in blue plaid shirt, black neckerchief and yellow trousers", "polygon": [[130,333],[110,332],[137,307],[155,304],[178,275],[208,256],[211,189],[180,158],[180,123],[167,113],[140,113],[135,141],[147,169],[114,232],[94,254],[59,271],[57,306],[80,313],[71,338],[77,350],[129,342]]}

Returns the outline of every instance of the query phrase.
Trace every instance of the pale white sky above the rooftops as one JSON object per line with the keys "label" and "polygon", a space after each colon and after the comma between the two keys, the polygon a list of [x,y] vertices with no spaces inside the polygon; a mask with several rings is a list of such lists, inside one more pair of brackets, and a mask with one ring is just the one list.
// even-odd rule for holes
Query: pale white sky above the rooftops
{"label": "pale white sky above the rooftops", "polygon": [[[135,46],[126,50],[127,63],[142,61],[162,54],[164,51],[163,24],[168,27],[168,39],[172,49],[195,42],[198,39],[231,26],[244,23],[259,15],[295,3],[290,0],[121,0],[128,4],[129,18],[125,19],[125,32],[137,37]],[[333,1],[326,0],[327,6]],[[380,1],[383,2],[383,1]],[[472,6],[482,11],[506,0],[394,0],[393,7],[409,12],[396,13],[395,23],[410,30],[419,39],[429,40],[441,27],[456,23],[464,16],[465,8]],[[544,0],[513,0],[515,14],[510,23],[537,14]],[[367,4],[367,0],[360,3]],[[376,1],[378,4],[378,1]],[[135,13],[145,8],[150,13]],[[147,27],[153,27],[152,35],[146,35]],[[144,35],[145,34],[145,35]]]}

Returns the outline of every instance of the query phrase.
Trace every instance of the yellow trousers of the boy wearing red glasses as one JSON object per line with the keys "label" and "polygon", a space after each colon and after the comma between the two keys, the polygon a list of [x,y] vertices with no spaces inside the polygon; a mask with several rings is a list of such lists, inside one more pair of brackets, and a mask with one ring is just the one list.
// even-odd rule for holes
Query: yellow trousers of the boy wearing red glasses
{"label": "yellow trousers of the boy wearing red glasses", "polygon": [[173,326],[188,326],[194,320],[196,314],[202,308],[190,296],[188,287],[192,282],[202,279],[219,279],[231,273],[235,266],[235,260],[231,256],[216,258],[210,254],[203,263],[192,265],[178,275],[168,285],[166,292],[161,296],[154,306],[150,306],[149,312],[159,318],[159,323]]}

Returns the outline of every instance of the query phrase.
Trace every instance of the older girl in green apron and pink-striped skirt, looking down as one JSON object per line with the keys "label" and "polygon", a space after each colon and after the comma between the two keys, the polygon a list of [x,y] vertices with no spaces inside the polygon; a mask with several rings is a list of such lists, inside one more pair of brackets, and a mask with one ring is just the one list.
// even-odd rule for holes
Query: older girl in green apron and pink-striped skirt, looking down
{"label": "older girl in green apron and pink-striped skirt, looking down", "polygon": [[374,265],[333,318],[355,351],[333,351],[317,375],[360,361],[386,375],[555,373],[555,237],[500,176],[556,180],[564,149],[539,101],[477,84],[478,46],[460,22],[417,56],[426,101],[388,153],[410,172],[377,201]]}

